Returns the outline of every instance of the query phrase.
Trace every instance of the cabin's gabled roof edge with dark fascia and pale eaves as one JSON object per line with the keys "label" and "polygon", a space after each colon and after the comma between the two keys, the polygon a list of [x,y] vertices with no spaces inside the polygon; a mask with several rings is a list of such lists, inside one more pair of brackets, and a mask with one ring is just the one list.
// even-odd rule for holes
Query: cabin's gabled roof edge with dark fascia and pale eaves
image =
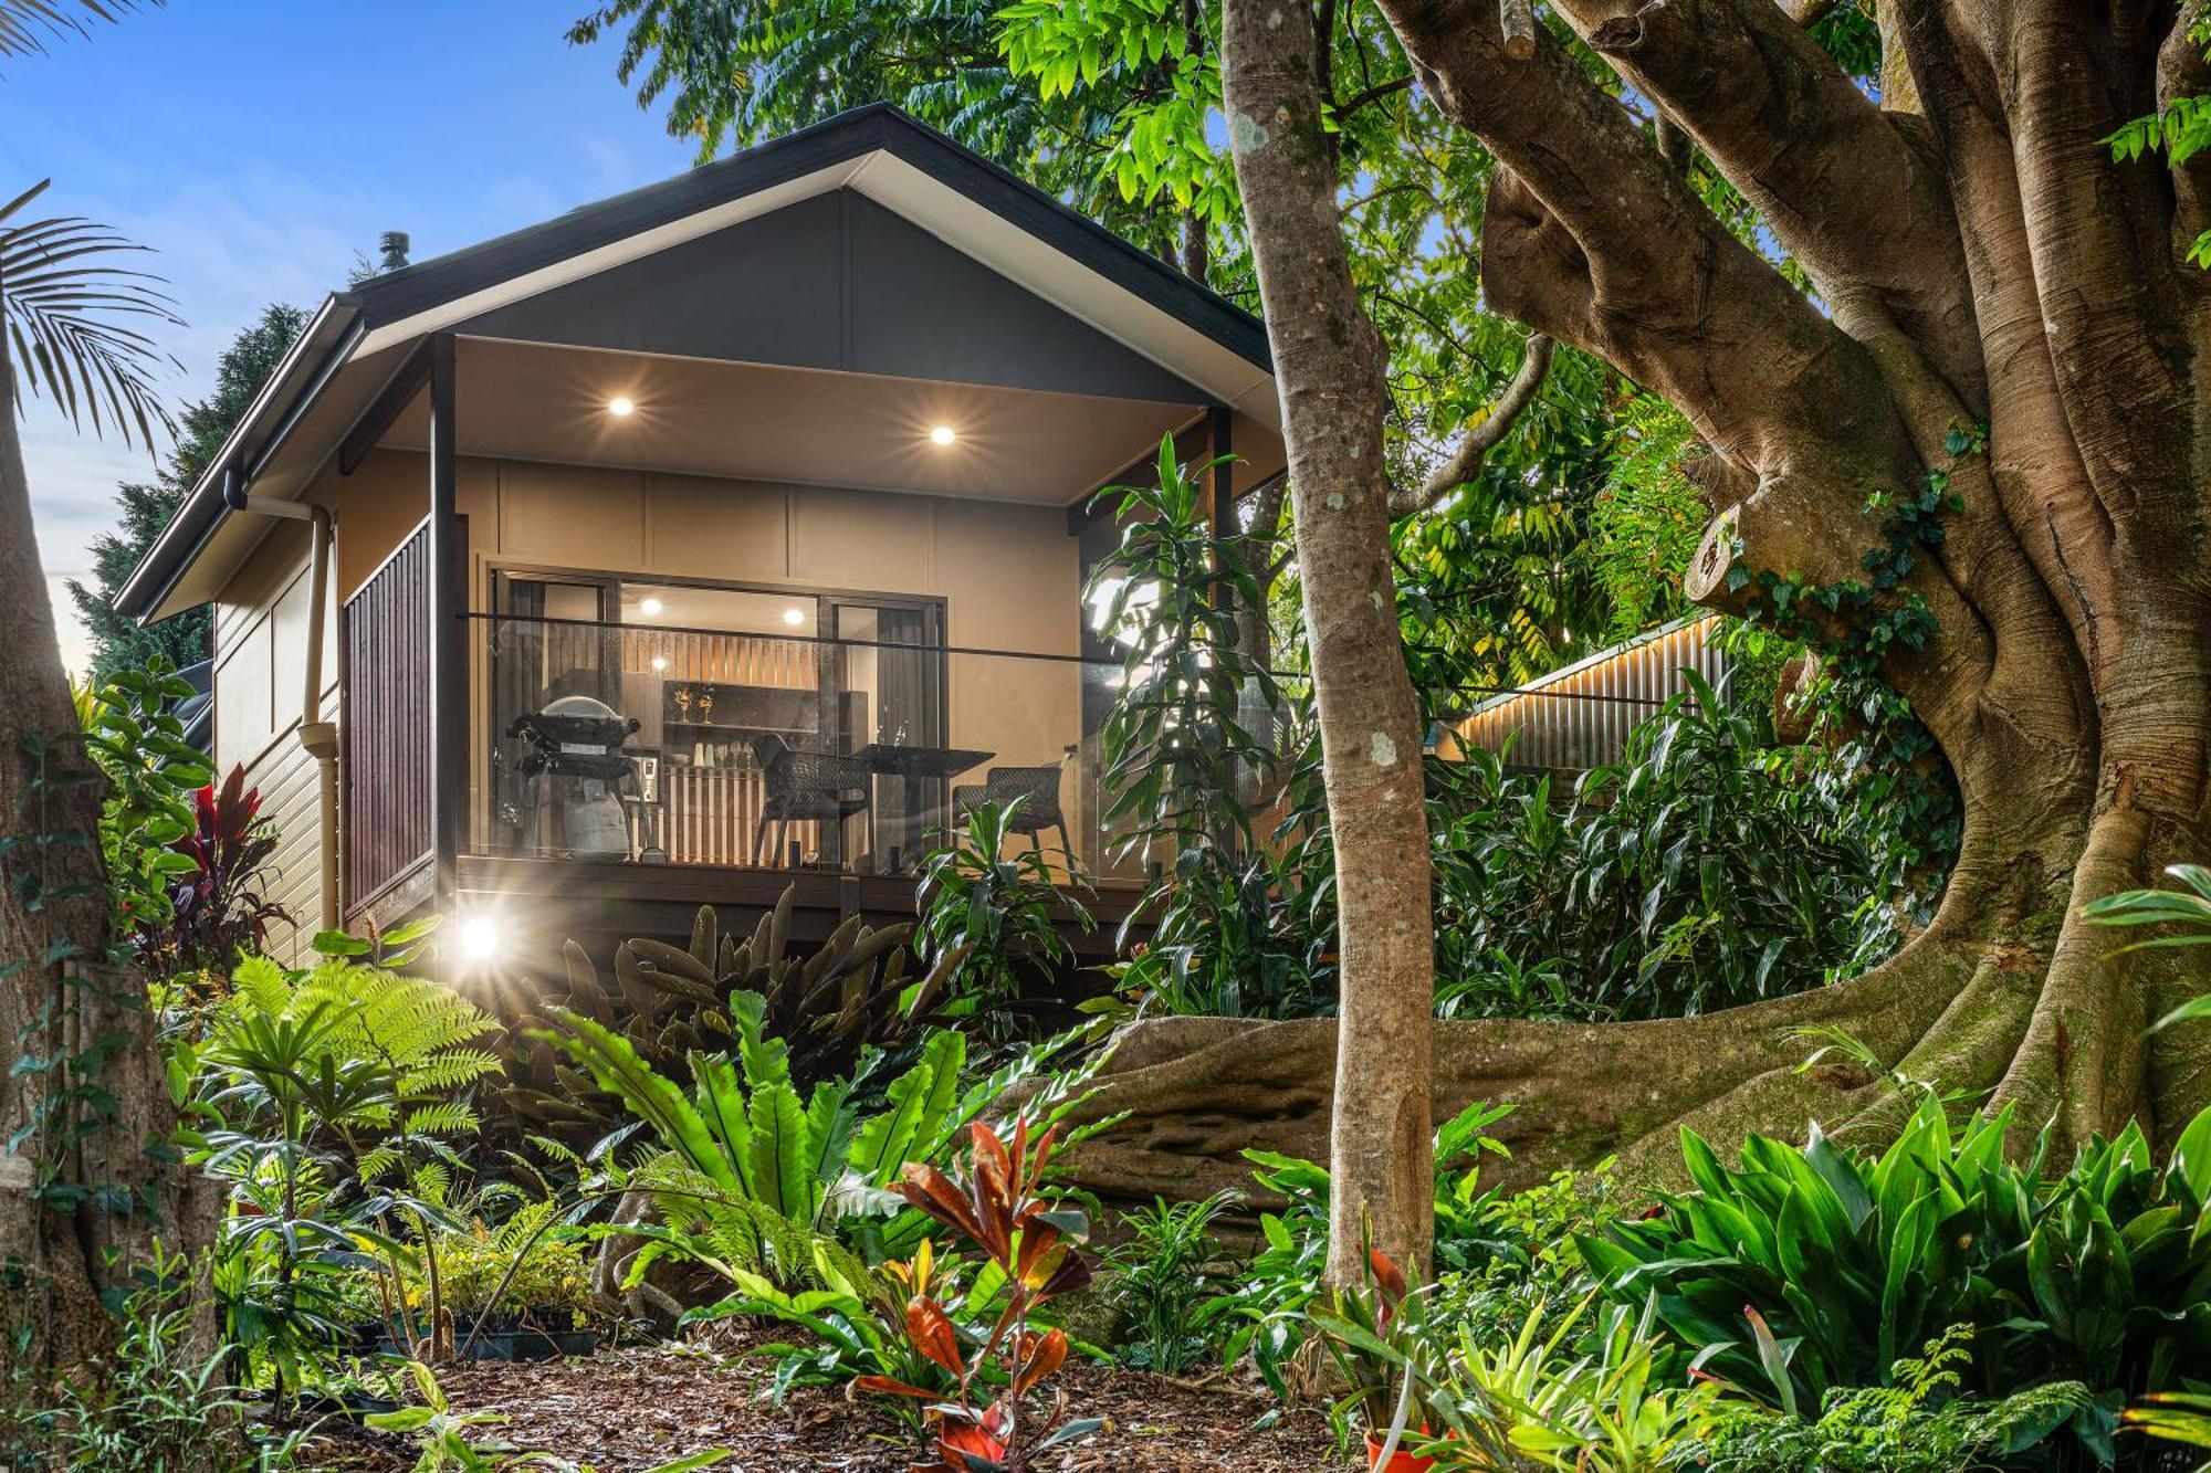
{"label": "cabin's gabled roof edge with dark fascia and pale eaves", "polygon": [[332,294],[117,606],[157,619],[206,599],[219,586],[214,564],[234,564],[259,540],[259,529],[232,524],[226,473],[263,495],[298,495],[425,334],[464,332],[513,303],[829,190],[869,197],[1212,400],[1278,425],[1258,318],[895,106],[876,104]]}

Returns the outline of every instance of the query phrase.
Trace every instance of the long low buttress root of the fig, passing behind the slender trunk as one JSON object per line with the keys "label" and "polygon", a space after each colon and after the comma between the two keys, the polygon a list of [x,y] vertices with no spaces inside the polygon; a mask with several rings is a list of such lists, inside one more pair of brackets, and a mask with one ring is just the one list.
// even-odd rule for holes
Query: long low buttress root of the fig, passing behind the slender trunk
{"label": "long low buttress root of the fig, passing behind the slender trunk", "polygon": [[[1630,1179],[1669,1181],[1680,1170],[1680,1124],[1725,1141],[1857,1117],[1879,1093],[1877,1077],[1855,1066],[1802,1070],[1817,1046],[1802,1031],[1837,1026],[1895,1064],[1926,1046],[1985,955],[1985,944],[1930,931],[1853,982],[1702,1017],[1437,1022],[1435,1112],[1446,1119],[1477,1099],[1515,1106],[1492,1130],[1512,1155],[1484,1168],[1508,1188],[1607,1155]],[[1333,1079],[1331,1020],[1132,1024],[1101,1064],[1097,1095],[1075,1112],[1123,1119],[1083,1141],[1068,1172],[1108,1199],[1249,1194],[1245,1150],[1327,1159]]]}

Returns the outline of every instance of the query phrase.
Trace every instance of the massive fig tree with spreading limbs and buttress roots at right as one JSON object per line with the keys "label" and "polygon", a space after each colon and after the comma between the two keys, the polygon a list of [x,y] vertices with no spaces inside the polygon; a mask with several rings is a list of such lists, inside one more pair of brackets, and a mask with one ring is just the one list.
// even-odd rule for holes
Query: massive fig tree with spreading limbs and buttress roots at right
{"label": "massive fig tree with spreading limbs and buttress roots at right", "polygon": [[[1249,9],[1298,24],[1298,7]],[[1517,60],[1492,0],[1382,9],[1426,97],[1497,157],[1490,303],[1665,394],[1709,445],[1691,597],[1809,615],[1833,657],[1910,699],[1966,803],[1941,909],[1886,967],[1680,1022],[1437,1024],[1435,1108],[1519,1104],[1521,1177],[1612,1150],[1663,1166],[1683,1121],[1877,1135],[1899,1108],[1882,1070],[1798,1070],[1800,1031],[1835,1024],[2063,1143],[2127,1119],[2169,1139],[2211,1104],[2211,1046],[2147,1024],[2204,991],[2202,953],[2120,953],[2083,907],[2211,858],[2211,274],[2184,259],[2211,228],[2211,153],[2118,166],[2100,142],[2211,93],[2187,18],[2171,0],[1897,0],[1888,73],[1924,108],[1899,113],[1771,0],[1557,0],[1758,206],[1815,305],[1550,35]],[[1245,60],[1229,49],[1232,135],[1276,126],[1234,75]],[[1311,210],[1249,181],[1247,201],[1262,265],[1340,259]],[[1380,389],[1364,358],[1307,356],[1331,332],[1364,341],[1327,292],[1267,292],[1267,314],[1296,473],[1300,451],[1364,431]],[[1395,905],[1426,931],[1422,898]],[[1132,1115],[1092,1148],[1092,1183],[1207,1190],[1243,1179],[1243,1146],[1316,1155],[1331,1108],[1389,1108],[1331,1097],[1331,1051],[1329,1024],[1139,1028],[1099,1099]],[[1415,1051],[1404,1079],[1422,1079]]]}

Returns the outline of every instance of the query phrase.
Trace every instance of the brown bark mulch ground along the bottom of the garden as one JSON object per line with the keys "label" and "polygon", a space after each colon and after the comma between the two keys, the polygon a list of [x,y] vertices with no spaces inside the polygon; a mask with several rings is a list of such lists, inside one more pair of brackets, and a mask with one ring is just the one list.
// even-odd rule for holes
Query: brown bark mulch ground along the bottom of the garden
{"label": "brown bark mulch ground along the bottom of the garden", "polygon": [[[754,1336],[767,1340],[774,1336]],[[542,1365],[471,1362],[444,1367],[440,1385],[455,1411],[504,1415],[478,1429],[517,1449],[548,1451],[597,1473],[641,1473],[670,1458],[730,1449],[721,1464],[774,1473],[845,1469],[904,1473],[915,1444],[880,1404],[847,1402],[836,1391],[794,1391],[780,1407],[761,1398],[769,1362],[745,1338],[710,1347],[652,1345],[610,1349],[584,1360]],[[1276,1409],[1262,1391],[1227,1378],[1176,1380],[1101,1365],[1070,1365],[1061,1376],[1070,1415],[1106,1427],[1039,1469],[1050,1473],[1338,1473],[1322,1418]],[[405,1473],[413,1446],[391,1433],[332,1427],[301,1466],[345,1473]]]}

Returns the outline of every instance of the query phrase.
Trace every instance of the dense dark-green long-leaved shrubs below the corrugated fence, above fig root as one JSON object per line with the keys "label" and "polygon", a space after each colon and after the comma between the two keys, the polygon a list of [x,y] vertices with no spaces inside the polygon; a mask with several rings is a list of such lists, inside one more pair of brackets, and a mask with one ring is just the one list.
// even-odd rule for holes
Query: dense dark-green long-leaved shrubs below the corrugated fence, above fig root
{"label": "dense dark-green long-leaved shrubs below the corrugated fence, above fig root", "polygon": [[1689,681],[1563,807],[1492,752],[1431,763],[1442,1015],[1678,1017],[1895,949],[1882,779]]}

